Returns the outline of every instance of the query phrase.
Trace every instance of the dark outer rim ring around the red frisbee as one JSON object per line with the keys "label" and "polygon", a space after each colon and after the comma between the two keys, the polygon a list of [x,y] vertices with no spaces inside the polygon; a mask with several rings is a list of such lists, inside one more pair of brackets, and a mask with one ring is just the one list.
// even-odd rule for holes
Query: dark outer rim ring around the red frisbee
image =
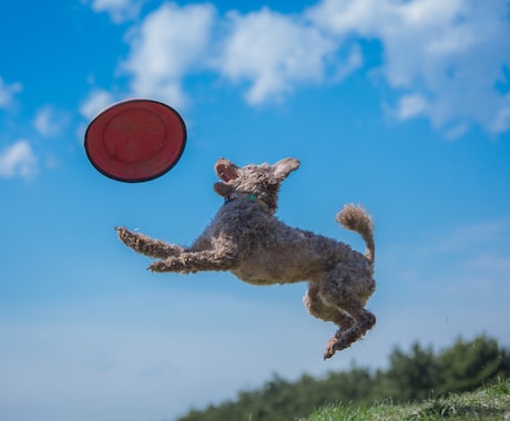
{"label": "dark outer rim ring around the red frisbee", "polygon": [[[180,124],[181,129],[182,129],[182,138],[180,138],[181,141],[181,145],[180,145],[180,148],[175,155],[175,157],[167,164],[165,165],[162,170],[159,170],[157,172],[155,173],[152,173],[151,175],[147,175],[147,176],[140,176],[140,177],[123,177],[121,175],[116,175],[116,174],[113,174],[112,172],[109,172],[108,170],[101,167],[96,162],[95,162],[95,158],[93,156],[93,153],[91,152],[90,150],[90,131],[91,131],[91,127],[94,127],[94,123],[96,123],[101,117],[104,116],[105,113],[116,109],[116,107],[120,107],[120,106],[125,106],[125,105],[129,105],[129,104],[136,104],[136,103],[144,103],[144,104],[155,104],[157,106],[163,106],[164,109],[166,109],[170,113],[173,114],[173,116],[176,117],[177,120],[177,123]],[[128,109],[129,110],[129,109]],[[152,111],[152,110],[151,110]],[[152,111],[154,113],[154,111]],[[120,112],[122,113],[122,111]],[[165,117],[162,116],[160,113],[155,113],[163,122],[165,121]],[[116,115],[115,115],[116,116]],[[113,119],[113,117],[112,117]],[[106,123],[108,124],[108,123]],[[101,173],[102,175],[109,177],[109,178],[112,178],[112,179],[115,179],[118,182],[123,182],[123,183],[143,183],[143,182],[149,182],[149,181],[152,181],[152,179],[155,179],[155,178],[159,178],[161,177],[162,175],[166,174],[170,170],[172,170],[176,164],[177,162],[181,160],[181,156],[183,155],[184,153],[184,150],[186,147],[186,140],[187,140],[187,131],[186,131],[186,124],[184,123],[184,120],[183,117],[181,116],[181,114],[172,106],[161,102],[161,101],[155,101],[155,100],[149,100],[149,99],[143,99],[143,97],[136,97],[136,99],[130,99],[130,100],[125,100],[125,101],[120,101],[120,102],[116,102],[108,107],[105,107],[104,110],[102,110],[98,115],[94,116],[94,119],[92,119],[92,121],[89,123],[86,130],[85,130],[85,135],[84,135],[84,148],[85,148],[85,154],[86,154],[86,157],[89,160],[89,162],[92,164],[92,166],[99,172]]]}

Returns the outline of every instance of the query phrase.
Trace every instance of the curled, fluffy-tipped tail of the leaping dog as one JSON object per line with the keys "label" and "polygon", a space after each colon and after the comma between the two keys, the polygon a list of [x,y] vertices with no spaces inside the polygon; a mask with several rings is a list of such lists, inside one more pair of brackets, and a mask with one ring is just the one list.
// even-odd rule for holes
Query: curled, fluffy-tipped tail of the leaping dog
{"label": "curled, fluffy-tipped tail of the leaping dog", "polygon": [[374,222],[370,215],[368,215],[363,206],[345,205],[336,215],[336,220],[340,223],[344,228],[354,230],[363,237],[366,245],[365,257],[370,266],[374,267],[376,245],[374,243]]}

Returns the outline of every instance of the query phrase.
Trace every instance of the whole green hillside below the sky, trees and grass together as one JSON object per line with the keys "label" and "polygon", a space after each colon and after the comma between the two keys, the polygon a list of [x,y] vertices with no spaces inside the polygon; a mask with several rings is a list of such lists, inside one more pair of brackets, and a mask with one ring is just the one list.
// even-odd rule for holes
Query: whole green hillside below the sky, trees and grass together
{"label": "whole green hillside below the sky, trees and grass together", "polygon": [[386,369],[354,366],[295,381],[275,374],[261,388],[192,409],[178,421],[510,421],[509,389],[510,351],[480,336],[471,341],[459,338],[439,352],[418,342],[409,352],[396,348]]}

